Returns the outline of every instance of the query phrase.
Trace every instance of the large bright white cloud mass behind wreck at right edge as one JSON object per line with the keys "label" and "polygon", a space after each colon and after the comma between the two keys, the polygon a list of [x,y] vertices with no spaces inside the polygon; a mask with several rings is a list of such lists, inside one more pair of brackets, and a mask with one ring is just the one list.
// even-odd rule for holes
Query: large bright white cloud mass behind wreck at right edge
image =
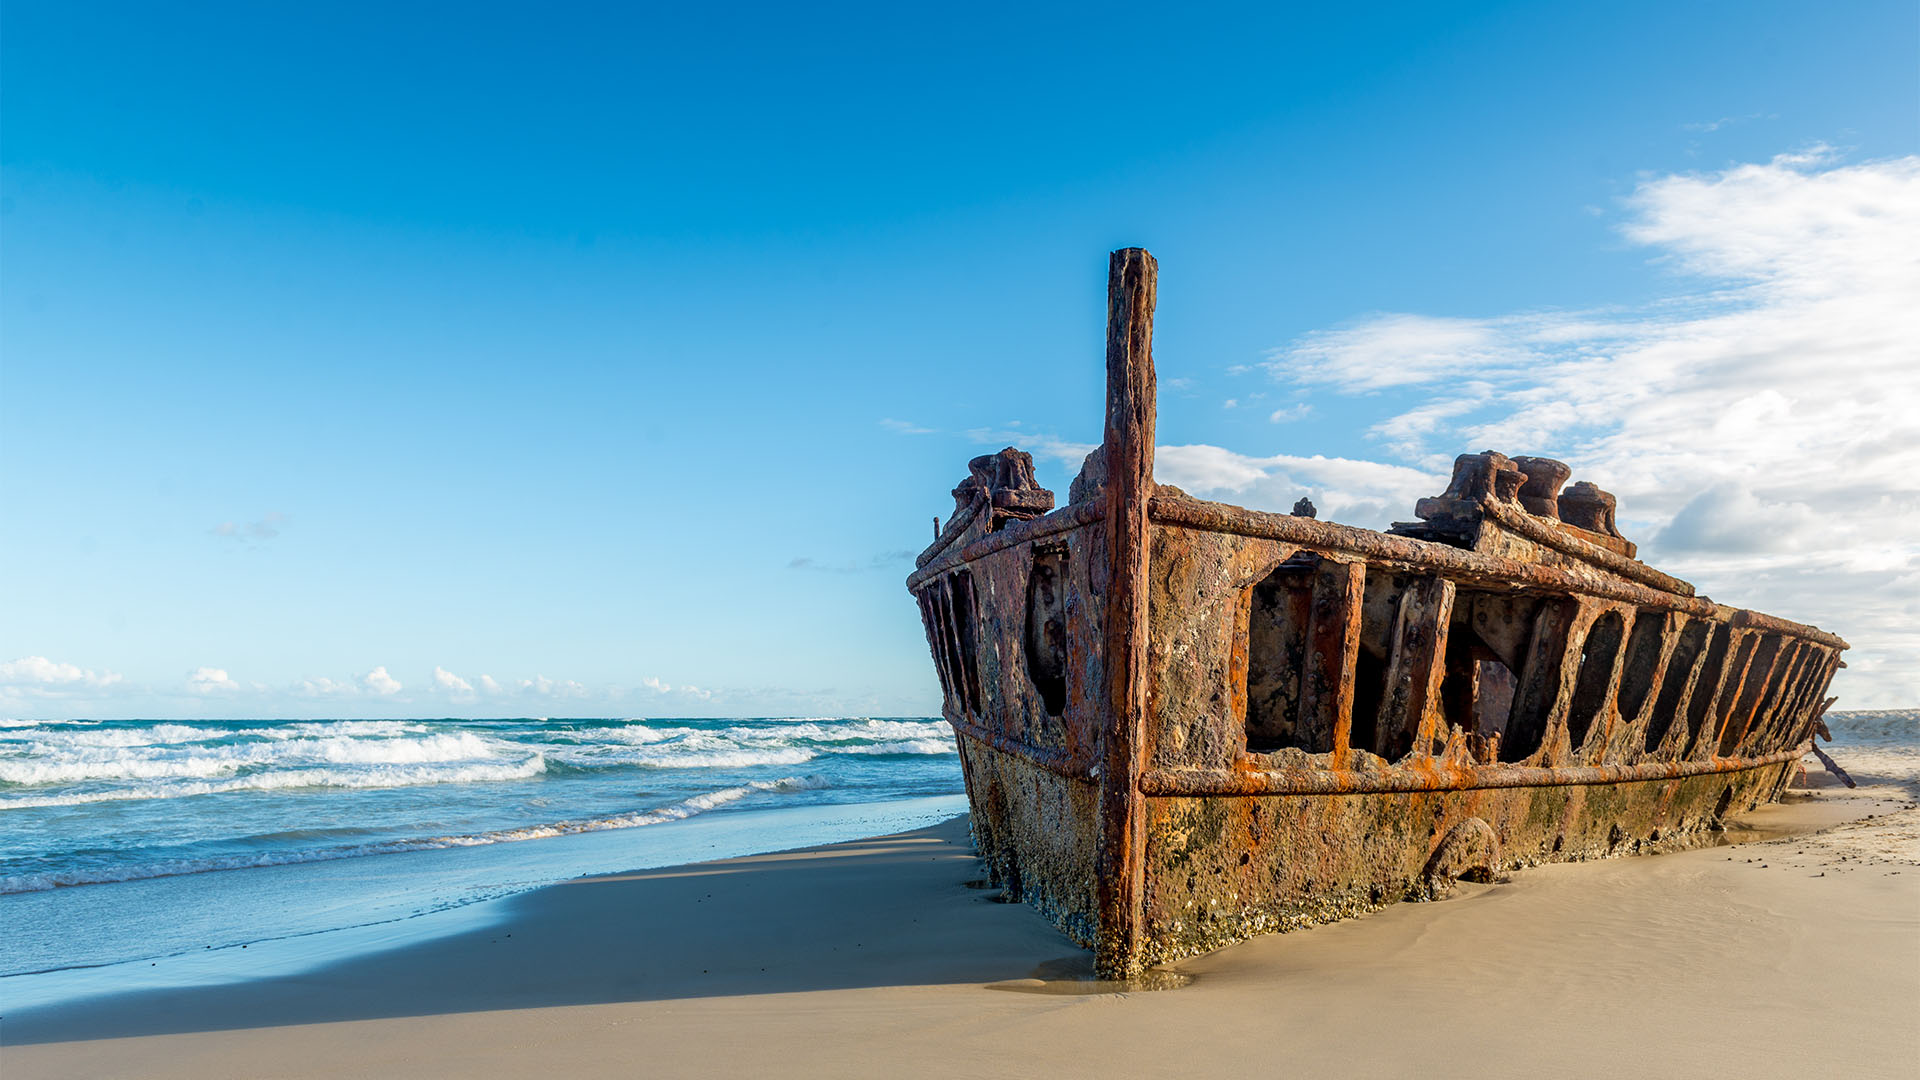
{"label": "large bright white cloud mass behind wreck at right edge", "polygon": [[1375,315],[1267,367],[1398,402],[1371,434],[1427,471],[1486,448],[1563,457],[1620,498],[1649,561],[1853,640],[1849,705],[1920,701],[1920,158],[1843,165],[1814,146],[1645,179],[1626,211],[1622,233],[1690,292]]}

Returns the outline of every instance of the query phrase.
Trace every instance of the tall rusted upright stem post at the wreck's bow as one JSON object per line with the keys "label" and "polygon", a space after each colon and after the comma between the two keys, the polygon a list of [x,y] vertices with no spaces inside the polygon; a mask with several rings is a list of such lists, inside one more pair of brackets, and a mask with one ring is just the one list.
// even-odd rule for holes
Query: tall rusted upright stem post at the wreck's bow
{"label": "tall rusted upright stem post at the wreck's bow", "polygon": [[1106,277],[1106,730],[1100,755],[1100,847],[1094,972],[1140,972],[1146,815],[1146,502],[1154,494],[1154,284],[1160,263],[1121,248]]}

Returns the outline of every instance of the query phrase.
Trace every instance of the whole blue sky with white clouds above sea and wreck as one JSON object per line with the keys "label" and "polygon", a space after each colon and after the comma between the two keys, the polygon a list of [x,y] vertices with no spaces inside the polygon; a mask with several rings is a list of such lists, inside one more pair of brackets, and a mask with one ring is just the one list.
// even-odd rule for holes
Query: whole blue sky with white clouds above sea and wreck
{"label": "whole blue sky with white clouds above sea and wreck", "polygon": [[1920,700],[1912,4],[0,19],[4,713],[931,713],[1125,244],[1164,480],[1559,454]]}

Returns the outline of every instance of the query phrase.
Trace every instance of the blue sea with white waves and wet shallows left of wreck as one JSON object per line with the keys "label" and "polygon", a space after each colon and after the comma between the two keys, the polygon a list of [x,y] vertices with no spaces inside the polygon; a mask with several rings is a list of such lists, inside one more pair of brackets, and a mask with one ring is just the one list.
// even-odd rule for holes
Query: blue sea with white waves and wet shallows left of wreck
{"label": "blue sea with white waves and wet shallows left of wreck", "polygon": [[937,719],[0,721],[0,999],[964,805]]}

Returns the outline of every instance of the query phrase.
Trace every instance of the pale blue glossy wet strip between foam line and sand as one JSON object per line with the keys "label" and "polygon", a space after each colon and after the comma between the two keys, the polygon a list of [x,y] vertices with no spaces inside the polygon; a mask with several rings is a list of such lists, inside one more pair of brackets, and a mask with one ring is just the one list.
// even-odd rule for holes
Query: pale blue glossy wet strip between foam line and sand
{"label": "pale blue glossy wet strip between foam line and sand", "polygon": [[[123,990],[119,982],[165,988],[292,974],[484,924],[492,905],[570,878],[854,840],[964,811],[964,796],[753,807],[520,844],[8,894],[0,896],[0,945],[13,953],[6,961],[58,951],[69,963],[0,974],[0,1005],[94,997]],[[296,905],[319,911],[290,915]],[[77,934],[92,955],[77,955]]]}

